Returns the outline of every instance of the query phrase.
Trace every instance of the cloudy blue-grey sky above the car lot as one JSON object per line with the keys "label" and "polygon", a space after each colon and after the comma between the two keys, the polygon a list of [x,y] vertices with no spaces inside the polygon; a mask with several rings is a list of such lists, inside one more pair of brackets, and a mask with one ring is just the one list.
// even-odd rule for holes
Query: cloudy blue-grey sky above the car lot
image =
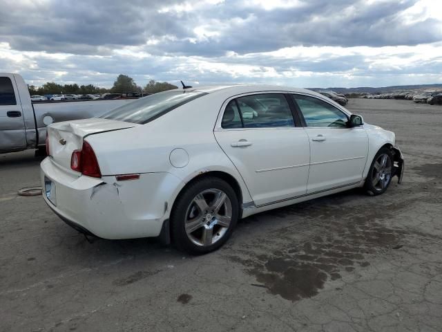
{"label": "cloudy blue-grey sky above the car lot", "polygon": [[0,0],[0,72],[111,87],[442,83],[442,0]]}

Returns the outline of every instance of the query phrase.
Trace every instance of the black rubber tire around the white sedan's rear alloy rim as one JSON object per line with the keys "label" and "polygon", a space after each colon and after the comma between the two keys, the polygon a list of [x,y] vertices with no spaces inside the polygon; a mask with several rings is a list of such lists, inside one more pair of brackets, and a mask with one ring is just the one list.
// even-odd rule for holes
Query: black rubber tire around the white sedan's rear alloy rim
{"label": "black rubber tire around the white sedan's rear alloy rim", "polygon": [[[188,219],[189,208],[195,197],[207,190],[220,190],[229,198],[231,205],[231,220],[227,230],[223,228],[224,234],[211,245],[195,244],[186,232],[186,220]],[[220,248],[231,237],[233,229],[236,226],[239,215],[238,197],[235,191],[226,181],[217,177],[201,178],[191,183],[184,192],[178,196],[171,211],[171,237],[173,244],[178,250],[189,252],[192,255],[204,255]],[[196,219],[196,218],[195,218]],[[204,216],[203,219],[204,220]],[[205,221],[204,221],[205,222]],[[215,226],[213,226],[215,227]],[[205,228],[205,226],[203,227]],[[202,231],[204,229],[201,228]],[[215,230],[215,228],[213,228]],[[195,232],[198,232],[195,231]],[[217,234],[218,235],[218,234]]]}

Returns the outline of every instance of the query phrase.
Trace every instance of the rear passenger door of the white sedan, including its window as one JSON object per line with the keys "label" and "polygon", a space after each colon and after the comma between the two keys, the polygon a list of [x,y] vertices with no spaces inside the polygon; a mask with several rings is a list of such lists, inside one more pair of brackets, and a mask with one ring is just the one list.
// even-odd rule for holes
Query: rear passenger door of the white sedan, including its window
{"label": "rear passenger door of the white sedan, including its window", "polygon": [[253,93],[224,103],[215,138],[256,205],[305,194],[309,140],[283,93]]}

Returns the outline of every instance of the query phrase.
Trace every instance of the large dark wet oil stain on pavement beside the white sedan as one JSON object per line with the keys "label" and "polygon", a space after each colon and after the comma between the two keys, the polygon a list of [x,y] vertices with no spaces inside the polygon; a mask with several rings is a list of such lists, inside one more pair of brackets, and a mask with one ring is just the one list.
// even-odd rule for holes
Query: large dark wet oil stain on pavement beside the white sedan
{"label": "large dark wet oil stain on pavement beside the white sedan", "polygon": [[[356,267],[369,266],[367,255],[390,250],[407,233],[380,222],[407,202],[381,203],[379,210],[370,210],[368,205],[348,211],[338,202],[342,199],[337,195],[319,204],[311,201],[273,210],[276,218],[290,215],[307,219],[305,228],[299,229],[295,221],[293,226],[267,234],[265,240],[238,250],[229,259],[244,265],[247,273],[256,277],[253,286],[296,301],[317,295],[327,280],[340,279],[343,271],[350,273]],[[386,204],[388,208],[382,206]],[[309,241],[297,243],[298,232],[314,235],[305,237]]]}

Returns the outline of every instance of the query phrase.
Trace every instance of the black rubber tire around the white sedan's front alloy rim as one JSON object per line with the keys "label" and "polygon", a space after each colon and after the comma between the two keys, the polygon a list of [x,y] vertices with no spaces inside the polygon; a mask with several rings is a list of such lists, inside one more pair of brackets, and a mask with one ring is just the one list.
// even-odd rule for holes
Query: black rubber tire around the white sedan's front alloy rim
{"label": "black rubber tire around the white sedan's front alloy rim", "polygon": [[[379,158],[381,158],[381,156],[386,155],[387,158],[389,158],[390,160],[387,161],[387,166],[385,167],[385,173],[388,173],[388,171],[390,171],[390,176],[388,176],[387,179],[385,179],[385,177],[383,178],[383,181],[381,182],[381,185],[374,185],[374,182],[376,182],[375,176],[378,175],[378,169],[376,169],[376,161],[378,161]],[[392,150],[387,148],[387,147],[383,147],[382,149],[380,149],[378,151],[378,153],[376,154],[376,156],[374,156],[373,161],[372,161],[372,165],[370,165],[368,174],[367,174],[367,178],[365,179],[365,183],[364,183],[364,190],[365,192],[367,192],[367,194],[371,195],[371,196],[377,196],[377,195],[381,195],[383,194],[388,187],[390,186],[390,183],[392,182],[392,175],[393,175],[393,167],[394,167],[394,156],[392,153]],[[384,181],[385,179],[385,181]]]}

